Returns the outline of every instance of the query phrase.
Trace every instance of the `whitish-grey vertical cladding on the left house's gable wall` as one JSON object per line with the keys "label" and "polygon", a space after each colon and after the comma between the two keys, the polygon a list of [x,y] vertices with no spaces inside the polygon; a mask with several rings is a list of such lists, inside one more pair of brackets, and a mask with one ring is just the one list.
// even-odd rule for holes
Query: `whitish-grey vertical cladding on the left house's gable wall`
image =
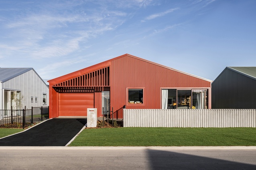
{"label": "whitish-grey vertical cladding on the left house's gable wall", "polygon": [[[2,94],[4,94],[4,90],[20,91],[21,95],[24,96],[23,108],[24,106],[28,109],[31,107],[49,106],[49,87],[33,69],[3,82]],[[43,94],[46,94],[46,104],[43,104]],[[33,102],[31,102],[31,98],[33,98]],[[37,98],[37,102],[35,98]],[[0,104],[3,104],[3,95],[1,100]]]}

